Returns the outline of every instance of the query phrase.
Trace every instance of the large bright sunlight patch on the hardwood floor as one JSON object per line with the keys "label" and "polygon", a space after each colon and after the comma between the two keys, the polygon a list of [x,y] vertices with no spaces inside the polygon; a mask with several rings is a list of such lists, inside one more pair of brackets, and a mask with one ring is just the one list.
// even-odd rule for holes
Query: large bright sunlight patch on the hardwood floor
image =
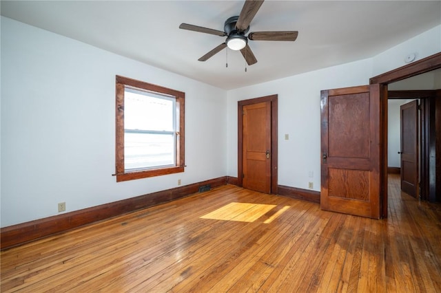
{"label": "large bright sunlight patch on the hardwood floor", "polygon": [[[275,207],[276,205],[274,204],[247,204],[243,202],[231,202],[226,206],[208,213],[207,215],[203,215],[201,219],[253,222]],[[277,213],[274,215],[276,214]],[[271,219],[271,217],[269,219]]]}

